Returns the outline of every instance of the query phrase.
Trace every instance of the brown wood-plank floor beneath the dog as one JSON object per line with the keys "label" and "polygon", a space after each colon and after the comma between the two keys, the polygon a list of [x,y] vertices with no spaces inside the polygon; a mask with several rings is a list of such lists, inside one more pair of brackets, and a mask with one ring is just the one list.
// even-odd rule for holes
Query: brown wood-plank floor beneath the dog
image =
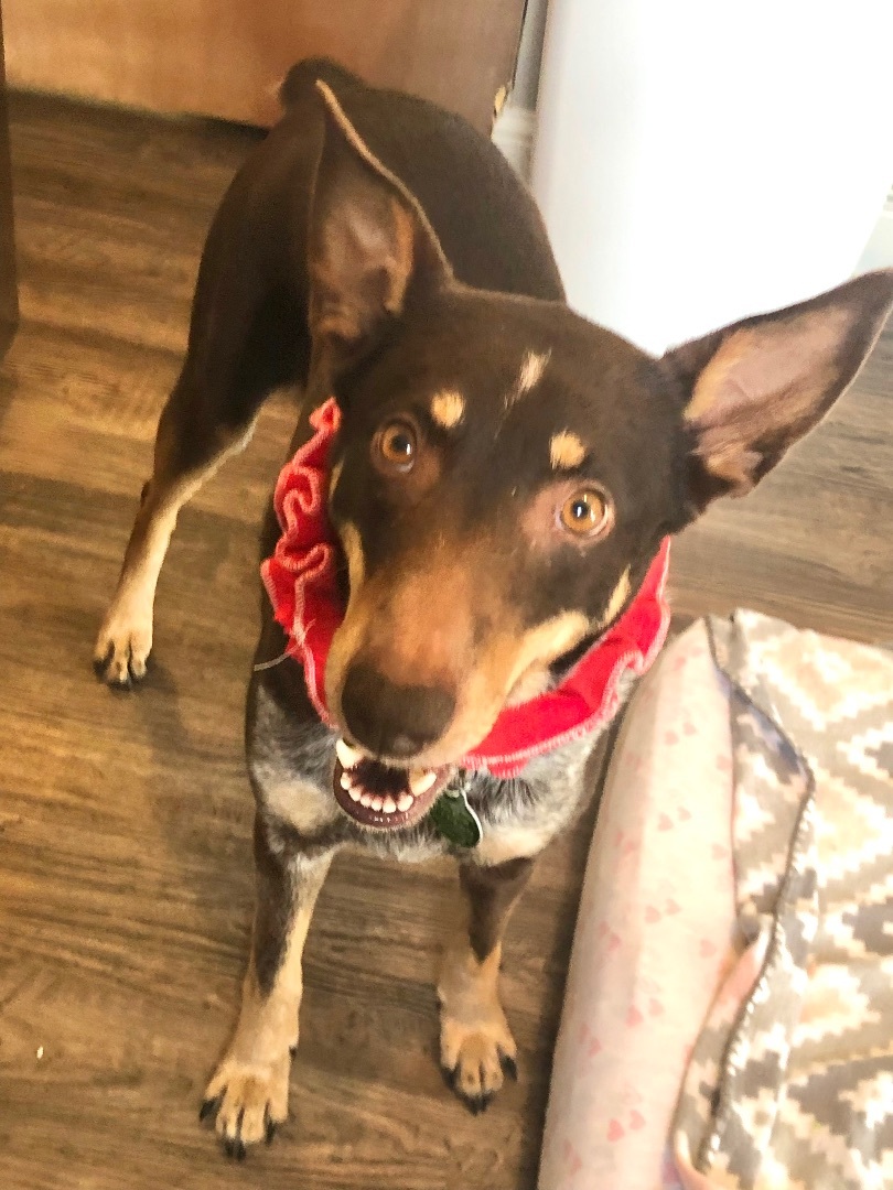
{"label": "brown wood-plank floor beneath the dog", "polygon": [[[204,231],[252,134],[14,99],[23,326],[0,374],[0,1185],[532,1190],[591,821],[513,920],[522,1082],[472,1119],[441,1083],[447,866],[341,857],[306,952],[289,1123],[229,1165],[201,1090],[246,953],[242,701],[256,525],[293,411],[181,518],[156,665],[93,678]],[[750,603],[893,638],[893,337],[814,439],[676,550],[681,612]],[[708,894],[708,890],[705,890]]]}

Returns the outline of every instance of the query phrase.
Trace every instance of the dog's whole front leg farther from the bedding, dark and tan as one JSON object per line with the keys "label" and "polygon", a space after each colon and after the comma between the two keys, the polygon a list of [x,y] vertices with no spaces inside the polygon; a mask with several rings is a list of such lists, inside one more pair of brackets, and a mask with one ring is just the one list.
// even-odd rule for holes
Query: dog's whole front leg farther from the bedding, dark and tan
{"label": "dog's whole front leg farther from the bedding, dark and tan", "polygon": [[275,829],[255,822],[257,910],[242,1008],[232,1041],[205,1091],[201,1119],[216,1117],[230,1157],[273,1138],[288,1114],[291,1057],[298,1045],[301,956],[332,851],[287,852]]}

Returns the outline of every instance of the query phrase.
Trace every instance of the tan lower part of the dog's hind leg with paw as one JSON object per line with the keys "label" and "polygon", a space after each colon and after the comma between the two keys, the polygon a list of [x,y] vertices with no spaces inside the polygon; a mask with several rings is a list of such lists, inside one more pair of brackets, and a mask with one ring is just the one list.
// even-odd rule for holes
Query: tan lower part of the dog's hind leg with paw
{"label": "tan lower part of the dog's hind leg with paw", "polygon": [[129,685],[131,678],[139,681],[145,675],[145,662],[152,647],[155,588],[177,514],[226,458],[244,450],[254,426],[252,421],[246,431],[225,443],[208,463],[187,476],[170,480],[156,465],[93,652],[96,669],[110,685]]}

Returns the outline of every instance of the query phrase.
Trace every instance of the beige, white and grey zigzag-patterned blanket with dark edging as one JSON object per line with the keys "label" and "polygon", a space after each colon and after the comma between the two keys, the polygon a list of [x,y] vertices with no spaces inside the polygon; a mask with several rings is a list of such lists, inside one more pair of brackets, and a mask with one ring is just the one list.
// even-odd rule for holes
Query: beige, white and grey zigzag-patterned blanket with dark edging
{"label": "beige, white and grey zigzag-patterned blanket with dark edging", "polygon": [[751,612],[710,630],[730,683],[741,958],[686,1073],[680,1175],[892,1188],[893,654]]}

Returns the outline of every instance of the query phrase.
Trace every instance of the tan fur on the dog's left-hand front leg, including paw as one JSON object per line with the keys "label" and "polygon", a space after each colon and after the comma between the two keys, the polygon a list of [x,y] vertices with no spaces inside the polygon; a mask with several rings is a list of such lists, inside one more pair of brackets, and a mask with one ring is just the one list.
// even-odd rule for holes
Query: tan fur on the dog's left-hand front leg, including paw
{"label": "tan fur on the dog's left-hand front leg, including paw", "polygon": [[[244,1155],[244,1146],[269,1139],[288,1115],[291,1054],[298,1045],[298,1014],[304,979],[301,958],[313,907],[323,887],[331,853],[298,862],[294,873],[295,906],[285,948],[268,990],[258,979],[258,962],[268,945],[258,904],[251,959],[242,988],[242,1008],[232,1041],[205,1091],[205,1103],[217,1109],[217,1134],[231,1155]],[[202,1113],[205,1109],[202,1109]]]}

